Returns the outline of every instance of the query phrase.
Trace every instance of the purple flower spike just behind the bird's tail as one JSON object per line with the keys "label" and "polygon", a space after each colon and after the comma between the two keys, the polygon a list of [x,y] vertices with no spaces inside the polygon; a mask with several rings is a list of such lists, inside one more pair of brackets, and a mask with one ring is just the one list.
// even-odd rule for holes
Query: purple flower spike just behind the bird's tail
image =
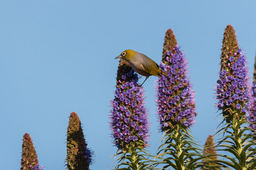
{"label": "purple flower spike just behind the bird's tail", "polygon": [[172,29],[167,30],[164,38],[160,67],[169,76],[169,79],[159,77],[156,87],[161,129],[174,129],[176,125],[187,129],[196,117],[194,92],[187,78],[187,60],[177,45]]}

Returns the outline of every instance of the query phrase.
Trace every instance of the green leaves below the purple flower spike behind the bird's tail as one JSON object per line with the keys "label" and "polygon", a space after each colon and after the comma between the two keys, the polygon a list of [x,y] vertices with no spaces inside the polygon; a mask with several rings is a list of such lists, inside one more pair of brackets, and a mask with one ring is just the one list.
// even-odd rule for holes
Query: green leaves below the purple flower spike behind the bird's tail
{"label": "green leaves below the purple flower spike behind the bird's tail", "polygon": [[192,170],[202,167],[199,164],[201,150],[189,132],[189,129],[179,128],[178,125],[175,129],[165,131],[157,155],[161,161],[157,164],[166,164],[164,169]]}

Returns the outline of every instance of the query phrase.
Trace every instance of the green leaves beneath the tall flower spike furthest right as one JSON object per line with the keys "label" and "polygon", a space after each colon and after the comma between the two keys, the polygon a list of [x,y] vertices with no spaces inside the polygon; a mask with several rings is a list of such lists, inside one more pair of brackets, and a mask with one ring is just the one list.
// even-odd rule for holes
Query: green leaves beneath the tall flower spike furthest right
{"label": "green leaves beneath the tall flower spike furthest right", "polygon": [[[250,134],[252,129],[248,128],[249,122],[243,117],[225,123],[219,128],[216,137],[223,135],[217,142],[217,151],[224,152],[217,154],[223,159],[212,160],[225,169],[253,170],[256,169],[256,141],[255,134]],[[230,155],[231,156],[227,156]]]}

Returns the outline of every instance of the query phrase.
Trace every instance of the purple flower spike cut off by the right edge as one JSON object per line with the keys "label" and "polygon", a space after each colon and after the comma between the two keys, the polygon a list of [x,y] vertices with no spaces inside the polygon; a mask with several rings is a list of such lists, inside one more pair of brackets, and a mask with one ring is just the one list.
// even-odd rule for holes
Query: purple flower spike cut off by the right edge
{"label": "purple flower spike cut off by the right edge", "polygon": [[251,129],[254,131],[252,134],[256,135],[256,56],[255,56],[255,63],[254,63],[254,74],[253,74],[253,87],[252,87],[253,95],[252,95],[252,100],[253,100],[253,105],[251,107],[251,114],[250,118],[248,119],[252,124],[249,125]]}

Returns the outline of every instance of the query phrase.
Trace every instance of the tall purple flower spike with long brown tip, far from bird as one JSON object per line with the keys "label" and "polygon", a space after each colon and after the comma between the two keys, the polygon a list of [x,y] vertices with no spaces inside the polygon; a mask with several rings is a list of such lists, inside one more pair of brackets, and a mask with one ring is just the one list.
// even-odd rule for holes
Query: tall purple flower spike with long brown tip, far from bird
{"label": "tall purple flower spike with long brown tip, far from bird", "polygon": [[245,53],[238,46],[232,25],[226,27],[222,44],[216,98],[217,108],[222,109],[223,116],[228,116],[226,120],[229,122],[233,118],[239,120],[250,109],[251,88]]}

